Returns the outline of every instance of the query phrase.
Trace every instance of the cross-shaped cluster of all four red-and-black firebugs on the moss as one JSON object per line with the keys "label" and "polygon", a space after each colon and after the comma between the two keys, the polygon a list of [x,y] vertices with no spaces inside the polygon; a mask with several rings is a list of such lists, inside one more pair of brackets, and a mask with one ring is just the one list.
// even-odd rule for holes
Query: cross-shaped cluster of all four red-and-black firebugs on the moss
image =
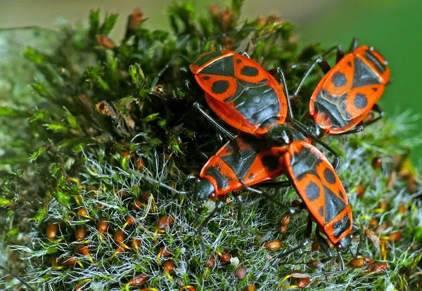
{"label": "cross-shaped cluster of all four red-and-black firebugs on the moss", "polygon": [[[330,70],[324,57],[335,50],[338,63]],[[283,89],[260,65],[232,51],[205,53],[191,64],[191,72],[204,89],[207,103],[219,117],[238,130],[278,143],[269,146],[252,137],[234,138],[225,131],[234,138],[234,143],[224,145],[207,162],[200,173],[202,180],[198,181],[193,192],[197,202],[204,202],[231,190],[250,189],[249,186],[255,183],[286,174],[309,210],[308,229],[312,229],[312,220],[319,224],[316,238],[328,254],[331,250],[319,232],[337,247],[343,270],[340,253],[350,247],[354,230],[352,212],[345,190],[335,174],[340,162],[338,155],[319,137],[360,131],[381,118],[382,110],[376,101],[388,82],[390,70],[379,53],[367,46],[357,48],[356,41],[353,41],[347,55],[343,56],[343,49],[336,46],[310,65],[293,97],[298,96],[305,78],[316,64],[326,75],[312,94],[309,113],[314,117],[316,128],[322,130],[309,129],[293,119],[281,70],[270,72],[281,75]],[[362,122],[371,110],[378,111],[379,117]],[[353,127],[354,130],[350,130]],[[335,155],[334,167],[305,136],[321,143]],[[198,233],[210,217],[200,225]]]}

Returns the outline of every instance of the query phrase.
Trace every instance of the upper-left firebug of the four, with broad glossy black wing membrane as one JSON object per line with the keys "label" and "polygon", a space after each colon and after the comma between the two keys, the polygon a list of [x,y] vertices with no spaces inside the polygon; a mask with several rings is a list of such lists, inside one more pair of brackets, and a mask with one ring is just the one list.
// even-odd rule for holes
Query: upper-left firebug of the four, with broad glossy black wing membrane
{"label": "upper-left firebug of the four, with broad glossy black wing membrane", "polygon": [[[190,69],[205,91],[210,108],[229,125],[273,141],[276,136],[272,133],[278,130],[271,129],[289,122],[333,153],[333,165],[337,168],[340,162],[338,154],[293,119],[286,80],[281,70],[274,71],[281,75],[283,89],[258,63],[233,51],[204,53],[196,58]],[[200,111],[205,115],[203,110]],[[207,116],[207,119],[217,124],[212,117]]]}

